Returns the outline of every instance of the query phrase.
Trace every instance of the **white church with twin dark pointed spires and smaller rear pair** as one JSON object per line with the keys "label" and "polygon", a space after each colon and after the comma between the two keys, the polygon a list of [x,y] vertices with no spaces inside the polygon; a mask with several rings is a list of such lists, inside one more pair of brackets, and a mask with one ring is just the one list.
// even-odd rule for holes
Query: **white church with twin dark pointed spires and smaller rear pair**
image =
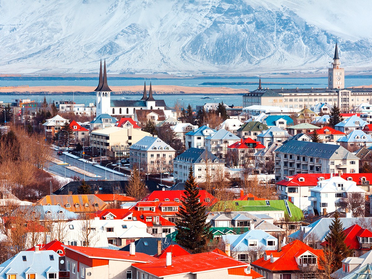
{"label": "white church with twin dark pointed spires and smaller rear pair", "polygon": [[103,73],[102,60],[100,62],[99,82],[94,91],[96,92],[97,116],[108,114],[134,118],[136,110],[163,110],[166,116],[171,114],[171,109],[166,106],[164,100],[154,99],[151,81],[148,96],[145,82],[143,96],[140,100],[111,100],[112,90],[107,83],[106,61],[104,61]]}

